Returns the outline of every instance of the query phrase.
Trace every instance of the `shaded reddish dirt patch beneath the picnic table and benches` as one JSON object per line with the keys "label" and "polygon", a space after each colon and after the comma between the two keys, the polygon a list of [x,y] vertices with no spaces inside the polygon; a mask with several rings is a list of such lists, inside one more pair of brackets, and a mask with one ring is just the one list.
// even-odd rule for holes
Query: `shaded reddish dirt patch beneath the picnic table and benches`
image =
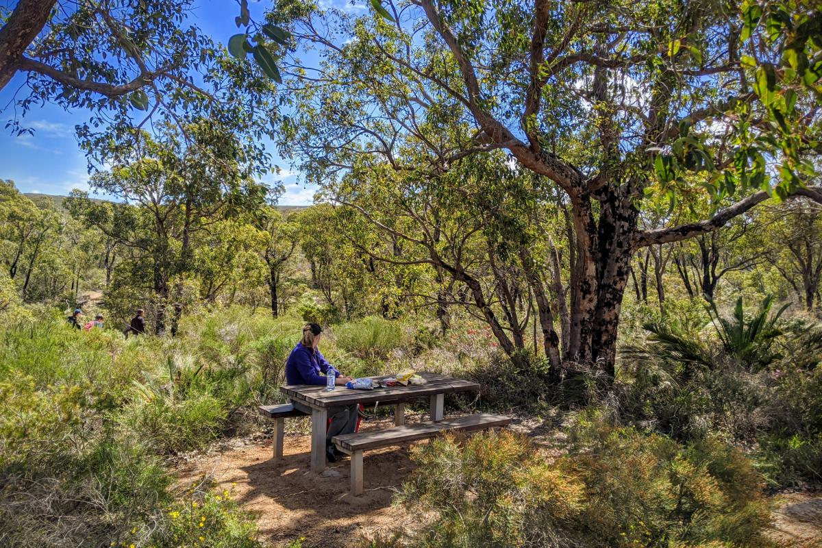
{"label": "shaded reddish dirt patch beneath the picnic table and benches", "polygon": [[[389,419],[368,421],[362,430],[392,424]],[[309,469],[310,445],[309,435],[286,435],[284,458],[275,462],[271,440],[236,440],[215,454],[178,464],[176,472],[183,483],[209,474],[221,488],[233,490],[256,513],[261,535],[274,546],[304,536],[306,548],[336,548],[360,534],[413,526],[413,518],[391,504],[413,470],[409,444],[365,454],[365,492],[359,497],[349,494],[349,459],[329,463],[326,477],[318,476]]]}

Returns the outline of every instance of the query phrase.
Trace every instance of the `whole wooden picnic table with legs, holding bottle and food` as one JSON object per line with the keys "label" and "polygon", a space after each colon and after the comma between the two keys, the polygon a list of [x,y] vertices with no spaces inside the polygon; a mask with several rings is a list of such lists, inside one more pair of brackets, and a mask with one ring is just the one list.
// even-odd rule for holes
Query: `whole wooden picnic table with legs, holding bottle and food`
{"label": "whole wooden picnic table with legs, holding bottle and food", "polygon": [[[322,385],[284,385],[279,391],[295,402],[312,408],[312,472],[322,472],[326,467],[326,422],[328,409],[341,405],[358,403],[395,403],[397,405],[395,424],[404,423],[404,403],[413,399],[431,399],[431,420],[443,419],[443,403],[446,394],[455,392],[478,392],[479,385],[470,380],[456,379],[436,373],[418,373],[426,380],[424,385],[396,385],[372,390],[353,390],[337,386],[326,390]],[[384,379],[390,375],[372,377]]]}

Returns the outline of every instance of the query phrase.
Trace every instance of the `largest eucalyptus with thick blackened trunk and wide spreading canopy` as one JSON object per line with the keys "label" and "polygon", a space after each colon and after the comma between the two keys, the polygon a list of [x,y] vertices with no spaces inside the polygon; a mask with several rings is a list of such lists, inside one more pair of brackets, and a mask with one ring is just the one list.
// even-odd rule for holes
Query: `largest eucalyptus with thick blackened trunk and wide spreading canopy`
{"label": "largest eucalyptus with thick blackened trunk and wide spreading canopy", "polygon": [[[441,173],[505,150],[552,182],[575,251],[570,359],[614,373],[637,250],[709,233],[771,196],[822,196],[802,187],[819,148],[815,3],[380,6],[353,17],[275,2],[270,21],[320,58],[283,61],[297,107],[284,154],[329,181],[358,161]],[[417,154],[400,150],[409,143]],[[640,228],[646,204],[676,210],[702,191],[714,205],[704,218]]]}

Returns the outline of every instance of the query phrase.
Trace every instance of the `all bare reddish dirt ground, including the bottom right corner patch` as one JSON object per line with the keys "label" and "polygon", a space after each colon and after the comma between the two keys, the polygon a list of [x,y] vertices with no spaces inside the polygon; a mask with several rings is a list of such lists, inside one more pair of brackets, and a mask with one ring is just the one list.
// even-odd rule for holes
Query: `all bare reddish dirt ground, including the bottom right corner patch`
{"label": "all bare reddish dirt ground, including the bottom right corner patch", "polygon": [[[423,417],[409,417],[416,421]],[[295,422],[295,421],[292,421]],[[393,425],[391,418],[363,422],[362,430]],[[293,429],[293,424],[291,425]],[[178,464],[181,485],[210,475],[220,488],[233,491],[245,508],[257,514],[264,540],[273,546],[305,537],[305,548],[343,548],[358,536],[374,536],[418,524],[399,506],[391,504],[395,492],[413,470],[409,446],[368,451],[363,458],[365,492],[349,494],[349,460],[329,463],[323,476],[309,470],[310,436],[287,432],[284,458],[272,460],[271,440],[233,439],[216,445],[205,455]],[[548,454],[557,451],[552,425],[543,421],[516,421],[512,428],[528,433]],[[426,443],[426,442],[418,442]],[[784,493],[777,496],[774,512],[775,540],[795,548],[822,548],[822,493]]]}

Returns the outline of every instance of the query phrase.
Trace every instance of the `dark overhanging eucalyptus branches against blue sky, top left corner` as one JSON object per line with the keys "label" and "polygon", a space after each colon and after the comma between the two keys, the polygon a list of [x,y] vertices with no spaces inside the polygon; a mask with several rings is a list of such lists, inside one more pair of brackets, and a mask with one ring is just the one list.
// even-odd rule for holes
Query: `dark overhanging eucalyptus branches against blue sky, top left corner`
{"label": "dark overhanging eucalyptus branches against blue sky, top left corner", "polygon": [[[110,138],[130,127],[173,121],[188,113],[236,117],[265,130],[273,108],[260,70],[233,60],[187,21],[192,0],[21,0],[0,12],[0,89],[25,74],[10,121],[31,131],[18,113],[40,104],[86,108],[77,127],[81,146],[94,157]],[[5,108],[5,106],[4,106]]]}

